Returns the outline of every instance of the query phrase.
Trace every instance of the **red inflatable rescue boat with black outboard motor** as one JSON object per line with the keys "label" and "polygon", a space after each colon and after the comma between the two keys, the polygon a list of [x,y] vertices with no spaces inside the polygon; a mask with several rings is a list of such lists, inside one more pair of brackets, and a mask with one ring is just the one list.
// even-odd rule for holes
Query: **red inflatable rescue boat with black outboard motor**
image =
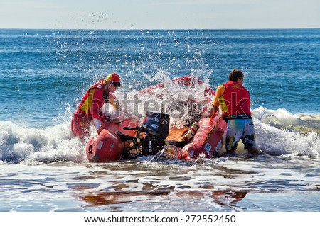
{"label": "red inflatable rescue boat with black outboard motor", "polygon": [[[183,86],[191,86],[195,82],[189,76],[173,81]],[[163,88],[163,84],[150,86],[139,95],[151,94],[159,87]],[[214,91],[207,88],[205,93],[211,98],[214,95]],[[206,101],[212,101],[211,98]],[[97,135],[87,142],[87,159],[90,162],[109,162],[160,152],[166,157],[183,160],[217,157],[223,147],[226,127],[224,120],[215,117],[193,120],[192,125],[177,128],[170,125],[169,114],[147,111],[142,123],[137,118],[127,118],[120,124],[103,123]]]}

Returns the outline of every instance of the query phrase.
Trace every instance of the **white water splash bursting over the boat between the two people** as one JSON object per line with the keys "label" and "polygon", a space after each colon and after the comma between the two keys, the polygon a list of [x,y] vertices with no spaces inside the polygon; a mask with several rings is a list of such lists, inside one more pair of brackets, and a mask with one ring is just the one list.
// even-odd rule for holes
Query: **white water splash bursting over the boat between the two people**
{"label": "white water splash bursting over the boat between the two people", "polygon": [[[178,85],[164,72],[158,72],[154,78],[145,74],[144,76],[149,81],[156,80],[164,86],[153,87],[151,93],[148,94],[138,94],[135,90],[129,91],[127,94],[127,100],[130,101],[130,104],[127,105],[128,112],[140,117],[143,117],[146,111],[169,113],[171,125],[182,126],[191,116],[191,112],[187,111],[188,108],[203,110],[203,108],[208,108],[213,99],[213,96],[205,96],[208,81],[205,80],[203,84],[196,82],[203,72],[195,70],[191,74],[191,78],[194,79],[193,86]],[[123,94],[117,93],[116,96],[120,102],[124,99]],[[134,99],[136,102],[132,104]],[[201,106],[195,103],[201,103]]]}

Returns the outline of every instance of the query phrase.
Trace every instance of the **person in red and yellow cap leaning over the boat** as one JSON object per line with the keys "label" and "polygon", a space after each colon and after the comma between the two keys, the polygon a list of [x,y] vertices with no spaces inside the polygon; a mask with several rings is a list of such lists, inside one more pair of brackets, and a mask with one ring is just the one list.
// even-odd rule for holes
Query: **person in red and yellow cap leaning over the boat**
{"label": "person in red and yellow cap leaning over the boat", "polygon": [[105,79],[100,79],[85,92],[71,120],[73,135],[81,138],[89,135],[89,128],[92,123],[96,128],[99,128],[106,120],[110,123],[119,123],[118,118],[110,119],[100,111],[104,103],[110,103],[118,108],[113,93],[117,91],[119,86],[121,86],[119,75],[112,73]]}

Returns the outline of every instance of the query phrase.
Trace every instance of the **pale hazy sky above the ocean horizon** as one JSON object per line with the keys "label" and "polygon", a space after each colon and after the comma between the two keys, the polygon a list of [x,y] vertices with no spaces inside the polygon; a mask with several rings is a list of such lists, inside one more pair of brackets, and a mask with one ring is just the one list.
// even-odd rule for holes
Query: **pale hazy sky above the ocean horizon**
{"label": "pale hazy sky above the ocean horizon", "polygon": [[0,0],[0,28],[320,28],[320,1]]}

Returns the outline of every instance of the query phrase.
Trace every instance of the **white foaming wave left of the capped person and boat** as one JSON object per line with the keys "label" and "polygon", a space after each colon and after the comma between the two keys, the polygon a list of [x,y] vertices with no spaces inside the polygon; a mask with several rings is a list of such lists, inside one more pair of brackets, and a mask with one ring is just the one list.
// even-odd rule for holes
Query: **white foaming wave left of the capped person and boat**
{"label": "white foaming wave left of the capped person and boat", "polygon": [[0,122],[0,157],[6,162],[83,162],[85,141],[73,137],[70,123],[48,128],[28,128]]}

